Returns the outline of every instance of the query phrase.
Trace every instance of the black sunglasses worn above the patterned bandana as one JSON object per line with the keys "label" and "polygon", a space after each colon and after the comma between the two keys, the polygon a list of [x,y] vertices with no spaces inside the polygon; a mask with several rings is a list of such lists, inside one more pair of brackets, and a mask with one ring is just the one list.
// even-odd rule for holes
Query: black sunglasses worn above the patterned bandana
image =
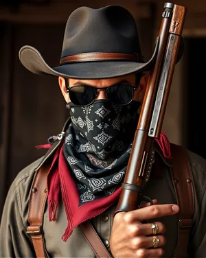
{"label": "black sunglasses worn above the patterned bandana", "polygon": [[124,106],[133,100],[137,87],[130,84],[117,84],[106,88],[95,88],[88,85],[67,87],[70,100],[78,106],[89,106],[98,96],[98,91],[104,90],[106,97],[117,106]]}

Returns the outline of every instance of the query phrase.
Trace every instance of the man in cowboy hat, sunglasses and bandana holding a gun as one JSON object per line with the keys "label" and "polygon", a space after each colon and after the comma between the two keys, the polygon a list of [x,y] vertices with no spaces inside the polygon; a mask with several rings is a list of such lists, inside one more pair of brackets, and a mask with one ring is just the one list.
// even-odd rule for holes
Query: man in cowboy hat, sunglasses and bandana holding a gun
{"label": "man in cowboy hat, sunglasses and bandana holding a gun", "polygon": [[[36,257],[27,226],[30,194],[38,191],[32,188],[35,169],[43,163],[49,168],[41,248],[48,257],[95,257],[80,231],[87,220],[113,257],[173,257],[179,207],[165,146],[157,144],[160,173],[153,169],[146,187],[146,195],[157,199],[154,205],[113,216],[146,87],[143,71],[155,58],[144,62],[131,14],[117,5],[78,8],[67,21],[59,67],[49,67],[30,46],[19,57],[34,73],[58,76],[71,121],[53,151],[12,183],[1,220],[0,257]],[[196,205],[185,257],[206,257],[206,162],[188,154]]]}

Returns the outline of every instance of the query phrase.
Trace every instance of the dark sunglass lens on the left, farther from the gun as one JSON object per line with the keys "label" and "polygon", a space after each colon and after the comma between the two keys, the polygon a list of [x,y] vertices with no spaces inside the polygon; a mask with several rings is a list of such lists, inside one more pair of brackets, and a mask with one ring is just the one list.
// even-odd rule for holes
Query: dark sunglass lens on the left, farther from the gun
{"label": "dark sunglass lens on the left, farther from the gun", "polygon": [[86,106],[93,102],[95,99],[96,91],[93,87],[89,86],[73,86],[69,89],[69,97],[71,102],[78,106]]}

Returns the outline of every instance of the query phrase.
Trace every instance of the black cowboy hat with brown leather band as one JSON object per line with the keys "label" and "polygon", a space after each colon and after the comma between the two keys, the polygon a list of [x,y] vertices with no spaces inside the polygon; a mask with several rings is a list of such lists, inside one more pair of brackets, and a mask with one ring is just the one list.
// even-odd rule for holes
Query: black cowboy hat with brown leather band
{"label": "black cowboy hat with brown leather band", "polygon": [[25,45],[19,59],[36,74],[64,78],[100,79],[150,70],[157,54],[148,62],[141,56],[137,26],[132,14],[118,5],[71,13],[65,27],[60,65],[51,68],[38,50]]}

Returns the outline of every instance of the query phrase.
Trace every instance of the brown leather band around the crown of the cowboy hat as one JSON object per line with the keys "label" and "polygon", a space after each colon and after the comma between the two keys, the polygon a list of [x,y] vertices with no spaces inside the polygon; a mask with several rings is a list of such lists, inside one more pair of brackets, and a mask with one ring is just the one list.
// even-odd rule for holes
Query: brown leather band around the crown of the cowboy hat
{"label": "brown leather band around the crown of the cowboy hat", "polygon": [[139,54],[124,54],[124,53],[83,53],[73,56],[65,56],[61,58],[60,65],[67,62],[82,62],[82,61],[108,61],[108,60],[129,60],[143,62],[143,56]]}

